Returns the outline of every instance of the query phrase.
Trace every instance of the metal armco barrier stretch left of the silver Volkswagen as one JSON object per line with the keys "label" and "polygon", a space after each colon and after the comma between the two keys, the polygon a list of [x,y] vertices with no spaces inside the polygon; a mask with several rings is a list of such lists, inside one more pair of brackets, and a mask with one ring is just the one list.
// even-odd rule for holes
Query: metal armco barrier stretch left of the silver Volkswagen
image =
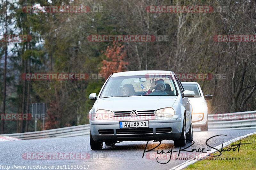
{"label": "metal armco barrier stretch left of the silver Volkswagen", "polygon": [[1,134],[0,136],[11,136],[19,139],[40,139],[40,138],[56,138],[56,137],[81,137],[89,136],[90,125],[79,125],[70,126],[59,129],[42,130],[35,132],[25,132],[25,133],[11,133],[11,134]]}

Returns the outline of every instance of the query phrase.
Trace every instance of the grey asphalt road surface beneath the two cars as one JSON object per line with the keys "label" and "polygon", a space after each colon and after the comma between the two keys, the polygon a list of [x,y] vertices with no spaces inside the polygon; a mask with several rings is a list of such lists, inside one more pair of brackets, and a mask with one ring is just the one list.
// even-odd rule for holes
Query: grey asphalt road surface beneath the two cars
{"label": "grey asphalt road surface beneath the two cars", "polygon": [[[215,135],[227,135],[227,136],[216,136],[210,139],[207,144],[215,147],[224,142],[227,142],[236,137],[240,137],[252,132],[255,132],[256,129],[252,130],[218,130],[218,131],[207,131],[201,132],[198,129],[194,129],[194,141],[195,143],[187,148],[186,150],[191,151],[192,149],[198,150],[199,148],[204,147],[206,150],[212,149],[208,147],[205,142],[208,138]],[[101,151],[92,151],[90,148],[89,137],[67,137],[67,138],[51,138],[51,139],[33,139],[33,140],[21,140],[21,141],[10,141],[10,142],[0,142],[0,169],[4,169],[4,165],[10,166],[12,168],[15,166],[55,166],[54,169],[57,169],[57,166],[63,166],[63,169],[171,169],[174,166],[179,165],[180,163],[186,160],[175,160],[164,157],[166,154],[160,156],[158,159],[159,162],[165,163],[160,164],[156,160],[156,152],[145,152],[144,158],[142,158],[145,146],[147,141],[136,141],[136,142],[120,142],[115,146],[103,146]],[[159,144],[159,142],[149,141],[146,151],[153,149]],[[190,143],[191,144],[191,143]],[[187,146],[190,145],[189,143]],[[186,147],[187,147],[186,146]],[[158,149],[159,148],[159,149]],[[183,149],[182,147],[181,149]],[[170,140],[162,141],[154,150],[159,150],[168,152],[172,150],[172,157],[176,155],[180,148],[175,148],[173,142]],[[243,149],[243,146],[240,147],[240,150]],[[73,158],[71,160],[60,160],[62,159],[35,159],[33,155],[28,156],[27,153],[33,153],[34,156],[38,156],[38,153],[68,153],[69,157]],[[78,156],[75,157],[74,154],[78,153]],[[85,153],[86,159],[80,159],[79,155]],[[190,153],[181,151],[182,155],[178,158],[186,157],[184,153]],[[196,154],[196,152],[193,152]],[[201,152],[200,152],[201,153]],[[73,154],[74,157],[71,155]],[[151,154],[151,155],[150,155]],[[170,154],[170,153],[169,153]],[[23,157],[22,157],[23,155]],[[160,154],[161,155],[161,154]],[[27,156],[27,157],[26,157]],[[60,156],[60,154],[58,154]],[[67,156],[67,155],[66,155]],[[188,156],[188,155],[187,155]],[[188,156],[189,157],[189,156]],[[30,159],[34,158],[34,159]],[[42,158],[42,157],[40,157]],[[68,158],[68,157],[66,157]],[[78,158],[78,159],[74,159]],[[162,158],[162,159],[161,159]],[[168,162],[169,161],[169,162]],[[168,163],[167,163],[168,162]],[[75,168],[76,165],[76,168]],[[78,166],[79,165],[79,166]],[[81,167],[82,165],[82,167]],[[89,167],[88,167],[89,165]],[[2,166],[2,167],[1,167]],[[15,167],[14,166],[14,167]],[[6,168],[7,166],[5,166]],[[19,169],[14,168],[13,169]],[[27,167],[28,168],[28,167]],[[21,168],[24,169],[24,168]],[[34,167],[34,169],[39,169]],[[41,168],[42,169],[42,168]]]}

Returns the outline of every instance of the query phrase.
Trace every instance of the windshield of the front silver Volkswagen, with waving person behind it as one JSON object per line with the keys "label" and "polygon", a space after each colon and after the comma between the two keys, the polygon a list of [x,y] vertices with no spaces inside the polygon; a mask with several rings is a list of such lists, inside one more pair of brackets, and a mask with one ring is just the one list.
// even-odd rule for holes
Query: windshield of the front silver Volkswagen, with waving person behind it
{"label": "windshield of the front silver Volkswagen, with waving person behind it", "polygon": [[145,75],[111,77],[104,86],[100,97],[177,95],[171,76],[167,75],[161,77],[161,79],[156,78],[156,87],[148,92],[151,87],[150,80],[152,82],[152,78],[146,77]]}

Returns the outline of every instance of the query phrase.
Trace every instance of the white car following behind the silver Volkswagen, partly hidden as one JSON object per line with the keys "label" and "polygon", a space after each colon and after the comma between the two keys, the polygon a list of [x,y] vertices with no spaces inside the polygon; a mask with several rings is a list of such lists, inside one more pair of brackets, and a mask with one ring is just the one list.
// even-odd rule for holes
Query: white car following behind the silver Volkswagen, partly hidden
{"label": "white car following behind the silver Volkswagen, partly hidden", "polygon": [[192,124],[194,128],[200,127],[201,131],[208,130],[208,107],[206,100],[212,99],[212,95],[207,94],[204,97],[202,89],[197,82],[181,82],[185,90],[195,92],[194,97],[189,97],[192,105]]}

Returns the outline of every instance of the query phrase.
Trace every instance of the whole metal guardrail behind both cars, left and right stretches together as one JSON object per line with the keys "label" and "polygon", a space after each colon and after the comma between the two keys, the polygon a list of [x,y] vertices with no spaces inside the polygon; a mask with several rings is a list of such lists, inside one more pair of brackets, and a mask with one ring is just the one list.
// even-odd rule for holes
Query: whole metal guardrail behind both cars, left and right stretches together
{"label": "whole metal guardrail behind both cars, left and right stretches together", "polygon": [[[218,114],[208,115],[209,130],[256,129],[256,110],[248,112],[227,113],[221,115],[227,116],[227,119],[230,119],[232,117],[234,118],[234,120],[225,120],[225,117],[222,117],[222,119],[219,120]],[[243,118],[243,120],[241,120],[241,118]],[[89,136],[89,129],[90,125],[85,124],[35,132],[2,134],[0,136],[12,136],[19,139],[81,137]]]}

